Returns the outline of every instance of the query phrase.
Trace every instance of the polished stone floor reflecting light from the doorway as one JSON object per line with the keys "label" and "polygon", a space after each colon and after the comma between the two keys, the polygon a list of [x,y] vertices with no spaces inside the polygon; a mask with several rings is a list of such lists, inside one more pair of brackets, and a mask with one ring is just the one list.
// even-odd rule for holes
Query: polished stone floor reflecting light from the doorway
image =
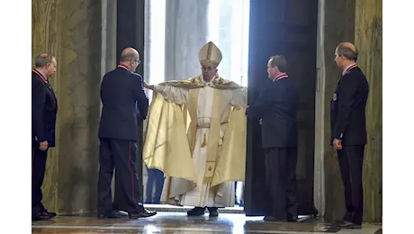
{"label": "polished stone floor reflecting light from the doorway", "polygon": [[[89,234],[89,233],[338,233],[380,234],[380,225],[365,224],[362,229],[338,229],[320,220],[302,218],[298,223],[265,222],[263,217],[246,217],[240,213],[220,213],[210,218],[187,217],[184,212],[158,212],[156,216],[139,220],[98,220],[95,217],[58,216],[53,220],[31,224],[31,233]],[[383,232],[384,233],[384,232]]]}

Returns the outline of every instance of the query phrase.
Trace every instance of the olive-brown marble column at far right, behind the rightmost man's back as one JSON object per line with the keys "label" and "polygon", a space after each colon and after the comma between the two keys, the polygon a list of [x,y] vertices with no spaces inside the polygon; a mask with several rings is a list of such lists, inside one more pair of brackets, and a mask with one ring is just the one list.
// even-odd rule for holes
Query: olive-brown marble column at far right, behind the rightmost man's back
{"label": "olive-brown marble column at far right, behind the rightmost man's back", "polygon": [[366,103],[368,144],[363,169],[364,220],[381,221],[383,185],[383,0],[356,0],[358,65],[370,85]]}

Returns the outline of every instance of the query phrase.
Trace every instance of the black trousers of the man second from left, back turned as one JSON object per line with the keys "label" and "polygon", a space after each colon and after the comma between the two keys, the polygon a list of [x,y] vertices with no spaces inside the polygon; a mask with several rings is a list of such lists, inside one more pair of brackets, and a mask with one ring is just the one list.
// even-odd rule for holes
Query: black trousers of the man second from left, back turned
{"label": "black trousers of the man second from left, back turned", "polygon": [[[113,208],[138,213],[139,181],[135,167],[137,142],[125,139],[100,139],[98,212],[110,213]],[[115,199],[112,204],[111,182],[115,169]]]}

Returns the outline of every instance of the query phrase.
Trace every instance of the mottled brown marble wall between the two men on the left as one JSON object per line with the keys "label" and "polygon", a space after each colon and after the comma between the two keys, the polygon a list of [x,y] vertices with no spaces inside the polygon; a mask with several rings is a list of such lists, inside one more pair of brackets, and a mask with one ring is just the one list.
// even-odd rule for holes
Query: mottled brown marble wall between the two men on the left
{"label": "mottled brown marble wall between the two men on the left", "polygon": [[58,96],[58,146],[49,150],[42,190],[45,206],[60,214],[96,210],[100,82],[115,61],[111,30],[104,30],[112,28],[108,5],[31,0],[31,54],[47,51],[58,61],[50,79]]}

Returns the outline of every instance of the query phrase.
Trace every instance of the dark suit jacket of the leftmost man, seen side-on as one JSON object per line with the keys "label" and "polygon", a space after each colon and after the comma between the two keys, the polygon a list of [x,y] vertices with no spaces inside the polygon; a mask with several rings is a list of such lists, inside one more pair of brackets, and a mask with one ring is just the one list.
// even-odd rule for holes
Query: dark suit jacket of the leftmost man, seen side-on
{"label": "dark suit jacket of the leftmost man, seen side-on", "polygon": [[34,72],[29,72],[29,86],[31,146],[39,146],[39,142],[48,140],[49,147],[55,147],[56,114],[58,112],[55,92],[49,83],[45,83]]}

